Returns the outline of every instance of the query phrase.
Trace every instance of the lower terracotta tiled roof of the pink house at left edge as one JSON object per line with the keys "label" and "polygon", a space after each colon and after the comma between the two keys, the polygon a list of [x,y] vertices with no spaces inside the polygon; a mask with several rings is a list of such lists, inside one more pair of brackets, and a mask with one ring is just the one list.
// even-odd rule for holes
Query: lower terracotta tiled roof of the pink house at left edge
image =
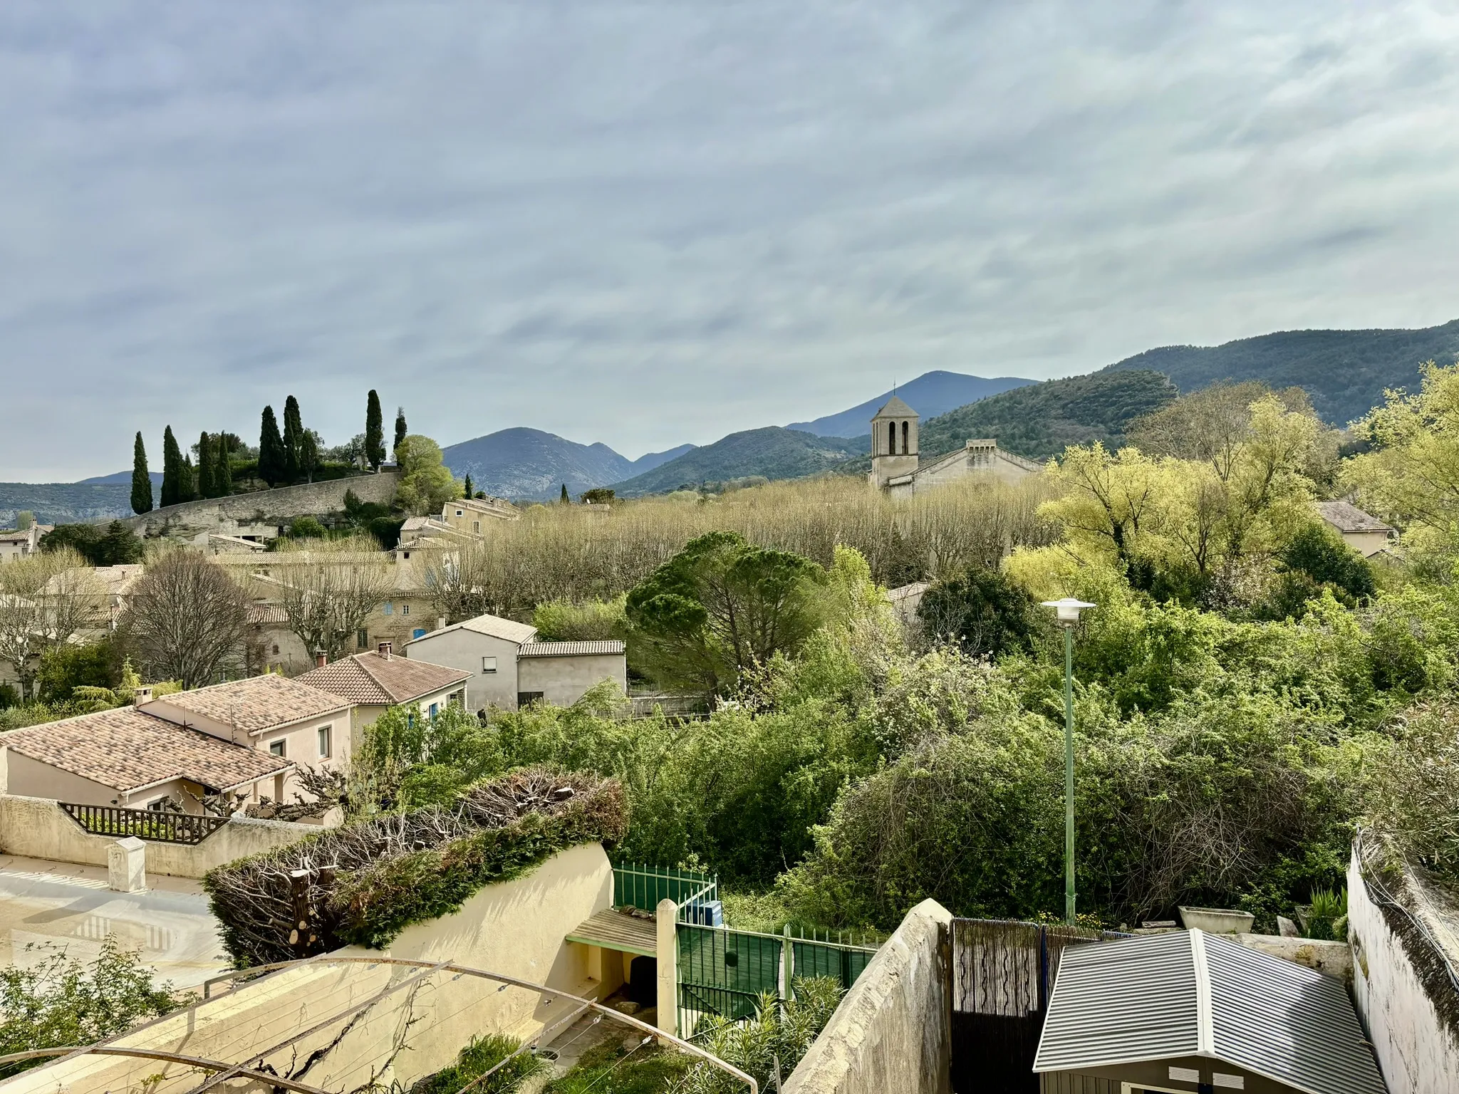
{"label": "lower terracotta tiled roof of the pink house at left edge", "polygon": [[293,766],[131,706],[12,729],[0,744],[117,791],[177,777],[228,791]]}

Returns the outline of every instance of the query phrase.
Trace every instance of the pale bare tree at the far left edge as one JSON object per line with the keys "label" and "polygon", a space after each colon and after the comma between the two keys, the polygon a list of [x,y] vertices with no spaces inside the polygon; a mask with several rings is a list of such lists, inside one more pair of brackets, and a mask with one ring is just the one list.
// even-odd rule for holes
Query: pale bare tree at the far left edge
{"label": "pale bare tree at the far left edge", "polygon": [[0,566],[0,661],[34,697],[41,653],[107,618],[107,592],[74,550],[44,551]]}

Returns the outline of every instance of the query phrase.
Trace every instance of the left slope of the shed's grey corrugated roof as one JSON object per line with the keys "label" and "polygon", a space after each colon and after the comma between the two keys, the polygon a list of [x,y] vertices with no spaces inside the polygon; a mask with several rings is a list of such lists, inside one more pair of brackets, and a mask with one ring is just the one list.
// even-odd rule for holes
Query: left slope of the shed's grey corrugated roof
{"label": "left slope of the shed's grey corrugated roof", "polygon": [[1198,1050],[1196,986],[1185,932],[1064,951],[1034,1071]]}

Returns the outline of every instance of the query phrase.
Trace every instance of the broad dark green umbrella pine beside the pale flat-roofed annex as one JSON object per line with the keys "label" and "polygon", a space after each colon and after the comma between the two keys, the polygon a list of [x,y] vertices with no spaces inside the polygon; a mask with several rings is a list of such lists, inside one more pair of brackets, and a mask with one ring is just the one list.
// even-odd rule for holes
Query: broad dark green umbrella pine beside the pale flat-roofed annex
{"label": "broad dark green umbrella pine beside the pale flat-roofed annex", "polygon": [[824,585],[808,559],[709,532],[629,592],[630,633],[654,677],[715,693],[798,649],[824,617]]}

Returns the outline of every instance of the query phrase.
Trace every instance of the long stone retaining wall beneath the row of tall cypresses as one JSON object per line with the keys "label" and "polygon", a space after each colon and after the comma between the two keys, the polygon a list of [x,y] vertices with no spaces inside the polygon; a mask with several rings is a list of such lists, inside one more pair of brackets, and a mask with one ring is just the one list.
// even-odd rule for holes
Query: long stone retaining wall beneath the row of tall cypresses
{"label": "long stone retaining wall beneath the row of tall cypresses", "polygon": [[139,516],[123,518],[137,535],[196,537],[198,532],[235,535],[254,525],[277,528],[295,516],[314,516],[344,509],[344,492],[353,490],[362,502],[390,505],[395,497],[400,476],[381,471],[378,476],[331,478],[327,483],[285,486],[231,497],[206,497],[153,509]]}

